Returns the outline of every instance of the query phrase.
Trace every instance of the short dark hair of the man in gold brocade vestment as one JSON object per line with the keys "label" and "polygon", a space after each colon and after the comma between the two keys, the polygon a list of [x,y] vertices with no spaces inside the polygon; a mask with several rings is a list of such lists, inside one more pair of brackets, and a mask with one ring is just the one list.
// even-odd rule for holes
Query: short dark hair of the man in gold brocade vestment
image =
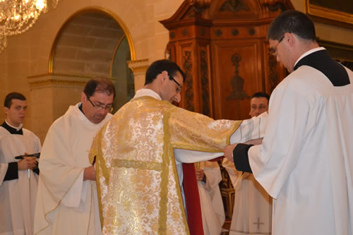
{"label": "short dark hair of the man in gold brocade vestment", "polygon": [[146,71],[145,85],[152,83],[152,81],[157,78],[158,74],[162,73],[163,71],[167,71],[170,80],[172,80],[170,76],[175,76],[177,71],[179,71],[181,76],[183,76],[183,82],[185,81],[185,73],[181,70],[177,63],[170,61],[169,59],[160,59],[153,62],[148,67]]}

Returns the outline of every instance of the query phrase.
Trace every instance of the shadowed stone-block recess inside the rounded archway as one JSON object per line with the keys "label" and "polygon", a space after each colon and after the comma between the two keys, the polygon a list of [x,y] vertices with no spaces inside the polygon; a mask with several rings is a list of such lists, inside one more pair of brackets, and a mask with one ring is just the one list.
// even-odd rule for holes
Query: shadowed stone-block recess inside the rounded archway
{"label": "shadowed stone-block recess inside the rounded archway", "polygon": [[112,61],[119,44],[126,38],[130,58],[135,48],[124,23],[108,11],[85,8],[74,13],[53,42],[49,73],[75,73],[89,76],[112,76]]}

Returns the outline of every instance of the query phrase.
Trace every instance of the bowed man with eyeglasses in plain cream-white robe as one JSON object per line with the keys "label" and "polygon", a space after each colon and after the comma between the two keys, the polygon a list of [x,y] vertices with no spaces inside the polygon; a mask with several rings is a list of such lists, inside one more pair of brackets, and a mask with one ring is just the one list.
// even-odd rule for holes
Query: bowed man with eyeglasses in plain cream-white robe
{"label": "bowed man with eyeglasses in plain cream-white robe", "polygon": [[35,234],[102,234],[92,139],[112,114],[114,85],[89,80],[81,102],[54,121],[40,156]]}

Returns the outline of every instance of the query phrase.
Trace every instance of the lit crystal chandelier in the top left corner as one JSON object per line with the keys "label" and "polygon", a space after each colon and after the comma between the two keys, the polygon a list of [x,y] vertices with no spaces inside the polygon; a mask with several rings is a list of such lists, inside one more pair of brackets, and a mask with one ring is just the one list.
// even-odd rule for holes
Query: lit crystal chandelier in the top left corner
{"label": "lit crystal chandelier in the top left corner", "polygon": [[[52,0],[53,8],[58,1]],[[0,52],[7,47],[8,36],[25,32],[46,12],[47,0],[0,0]]]}

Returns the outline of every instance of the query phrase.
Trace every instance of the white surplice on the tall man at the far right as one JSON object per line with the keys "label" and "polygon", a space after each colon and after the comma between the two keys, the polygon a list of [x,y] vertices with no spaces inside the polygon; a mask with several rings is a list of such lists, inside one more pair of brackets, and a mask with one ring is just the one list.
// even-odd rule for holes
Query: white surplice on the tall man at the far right
{"label": "white surplice on the tall man at the far right", "polygon": [[335,87],[300,66],[271,95],[263,145],[249,149],[249,162],[274,198],[275,235],[353,233],[353,73],[346,70],[350,84]]}

